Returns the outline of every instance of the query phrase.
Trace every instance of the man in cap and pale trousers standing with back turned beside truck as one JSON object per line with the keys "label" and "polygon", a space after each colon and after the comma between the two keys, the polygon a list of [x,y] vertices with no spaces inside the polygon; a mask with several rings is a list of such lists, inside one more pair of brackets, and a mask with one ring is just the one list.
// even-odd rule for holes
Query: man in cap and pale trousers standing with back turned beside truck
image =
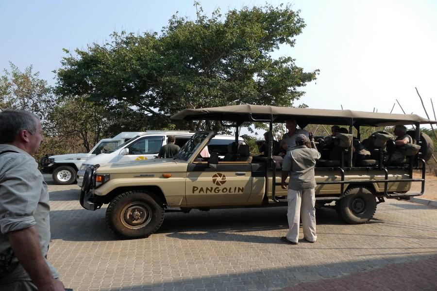
{"label": "man in cap and pale trousers standing with back turned beside truck", "polygon": [[281,240],[290,244],[297,244],[299,241],[299,221],[302,216],[303,239],[307,242],[316,242],[316,179],[314,167],[320,159],[313,135],[309,133],[311,148],[305,146],[308,138],[304,134],[296,136],[296,147],[287,151],[282,164],[281,187],[287,189],[286,178],[290,175],[288,182],[288,226],[289,230]]}

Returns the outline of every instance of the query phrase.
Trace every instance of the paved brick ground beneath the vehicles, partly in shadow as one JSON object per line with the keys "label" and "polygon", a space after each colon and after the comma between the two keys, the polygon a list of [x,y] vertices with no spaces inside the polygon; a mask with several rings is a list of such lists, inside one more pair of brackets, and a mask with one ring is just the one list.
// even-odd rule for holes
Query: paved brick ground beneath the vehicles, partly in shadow
{"label": "paved brick ground beneath the vehicles, partly in shadow", "polygon": [[314,244],[279,240],[285,208],[168,213],[159,233],[120,241],[77,186],[49,190],[49,259],[75,291],[437,290],[433,207],[390,200],[358,226],[320,210]]}

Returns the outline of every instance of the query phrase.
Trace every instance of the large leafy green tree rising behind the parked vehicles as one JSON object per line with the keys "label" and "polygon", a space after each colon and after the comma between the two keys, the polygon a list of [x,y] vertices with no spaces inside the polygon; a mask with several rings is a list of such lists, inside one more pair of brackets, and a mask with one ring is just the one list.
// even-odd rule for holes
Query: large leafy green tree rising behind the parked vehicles
{"label": "large leafy green tree rising behind the parked vehicles", "polygon": [[[318,70],[304,72],[291,57],[271,57],[279,45],[294,46],[305,26],[288,5],[244,7],[224,17],[218,9],[207,17],[199,3],[195,7],[194,21],[174,15],[160,34],[114,32],[104,45],[75,55],[65,50],[56,92],[88,95],[105,106],[125,102],[161,128],[185,108],[291,106],[304,94],[298,89],[315,80]],[[191,129],[205,126],[215,125],[192,123]]]}

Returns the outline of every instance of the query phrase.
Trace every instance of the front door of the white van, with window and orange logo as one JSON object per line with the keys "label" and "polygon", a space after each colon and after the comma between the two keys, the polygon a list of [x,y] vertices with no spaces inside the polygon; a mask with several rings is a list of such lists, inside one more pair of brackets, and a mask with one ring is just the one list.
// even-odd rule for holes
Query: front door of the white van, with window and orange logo
{"label": "front door of the white van, with window and orange logo", "polygon": [[164,139],[164,135],[143,136],[126,147],[127,153],[123,150],[120,152],[118,162],[153,159],[164,145]]}

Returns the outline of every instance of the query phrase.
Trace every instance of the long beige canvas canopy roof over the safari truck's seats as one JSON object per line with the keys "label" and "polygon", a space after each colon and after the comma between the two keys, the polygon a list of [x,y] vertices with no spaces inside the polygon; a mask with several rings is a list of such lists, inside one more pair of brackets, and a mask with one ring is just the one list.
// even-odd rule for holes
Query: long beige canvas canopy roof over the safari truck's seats
{"label": "long beige canvas canopy roof over the safari truck's seats", "polygon": [[253,122],[252,118],[266,121],[270,120],[271,117],[273,122],[295,119],[301,128],[307,124],[390,126],[437,123],[416,114],[372,113],[352,110],[291,108],[250,104],[184,109],[171,116],[171,119],[221,120],[241,123]]}

